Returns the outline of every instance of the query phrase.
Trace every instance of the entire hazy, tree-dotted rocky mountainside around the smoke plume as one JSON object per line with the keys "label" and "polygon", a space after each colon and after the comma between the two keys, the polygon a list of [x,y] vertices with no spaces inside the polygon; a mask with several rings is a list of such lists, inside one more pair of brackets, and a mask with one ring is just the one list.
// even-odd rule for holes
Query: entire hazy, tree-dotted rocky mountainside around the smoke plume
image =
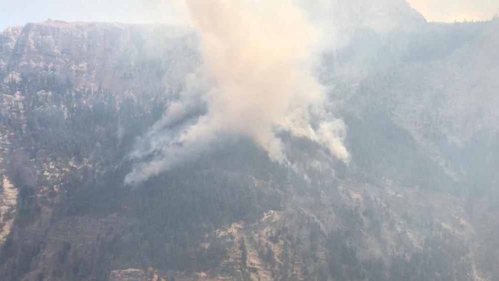
{"label": "entire hazy, tree-dotted rocky mountainside around the smoke plume", "polygon": [[494,280],[499,22],[356,3],[319,69],[349,167],[303,139],[286,139],[292,166],[238,139],[135,188],[127,155],[196,70],[196,34],[0,33],[1,279]]}

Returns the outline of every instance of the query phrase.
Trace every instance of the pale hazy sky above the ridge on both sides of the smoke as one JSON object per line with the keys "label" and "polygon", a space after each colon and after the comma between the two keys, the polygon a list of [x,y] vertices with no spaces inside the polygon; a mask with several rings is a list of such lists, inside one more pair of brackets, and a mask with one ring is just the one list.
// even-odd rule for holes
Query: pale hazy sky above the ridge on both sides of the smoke
{"label": "pale hazy sky above the ridge on both sides of the smoke", "polygon": [[[128,23],[182,21],[174,0],[4,0],[0,30],[50,19],[65,21],[118,21]],[[492,18],[499,0],[409,0],[429,21]]]}

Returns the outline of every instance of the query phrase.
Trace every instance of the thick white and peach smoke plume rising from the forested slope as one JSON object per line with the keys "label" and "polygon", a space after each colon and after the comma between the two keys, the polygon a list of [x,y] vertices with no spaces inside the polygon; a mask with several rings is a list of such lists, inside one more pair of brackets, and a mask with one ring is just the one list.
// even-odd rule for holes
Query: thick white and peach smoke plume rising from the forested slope
{"label": "thick white and peach smoke plume rising from the forested slope", "polygon": [[320,143],[344,162],[345,125],[325,108],[313,71],[321,34],[291,0],[182,0],[202,63],[181,97],[136,144],[137,184],[195,158],[224,137],[247,136],[287,163],[280,132]]}

